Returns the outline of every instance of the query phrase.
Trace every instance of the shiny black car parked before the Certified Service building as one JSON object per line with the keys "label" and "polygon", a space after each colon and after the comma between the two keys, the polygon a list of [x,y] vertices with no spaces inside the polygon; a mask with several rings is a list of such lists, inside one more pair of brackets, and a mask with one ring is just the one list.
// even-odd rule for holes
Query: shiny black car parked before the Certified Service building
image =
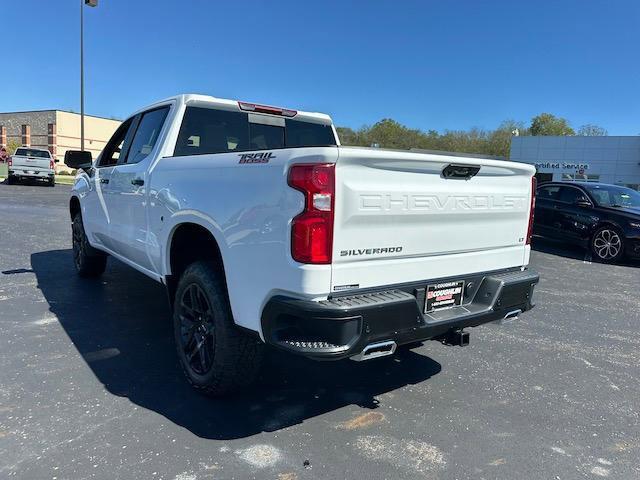
{"label": "shiny black car parked before the Certified Service building", "polygon": [[604,183],[544,183],[533,232],[582,245],[603,262],[640,258],[640,193]]}

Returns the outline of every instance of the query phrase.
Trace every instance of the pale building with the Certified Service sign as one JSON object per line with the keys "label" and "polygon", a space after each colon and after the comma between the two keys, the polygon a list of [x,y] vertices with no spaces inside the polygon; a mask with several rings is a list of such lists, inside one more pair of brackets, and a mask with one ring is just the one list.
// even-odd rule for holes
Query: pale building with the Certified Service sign
{"label": "pale building with the Certified Service sign", "polygon": [[513,137],[509,158],[535,165],[538,182],[602,182],[640,190],[640,136]]}

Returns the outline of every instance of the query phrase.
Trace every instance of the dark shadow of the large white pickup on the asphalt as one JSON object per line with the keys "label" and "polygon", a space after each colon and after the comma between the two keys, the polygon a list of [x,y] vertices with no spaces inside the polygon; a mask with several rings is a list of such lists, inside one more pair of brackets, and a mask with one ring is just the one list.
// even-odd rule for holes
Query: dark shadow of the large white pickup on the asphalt
{"label": "dark shadow of the large white pickup on the asphalt", "polygon": [[31,265],[50,311],[106,389],[199,437],[243,438],[346,405],[376,408],[381,394],[441,370],[411,351],[357,363],[314,362],[271,350],[254,387],[230,398],[207,398],[180,370],[161,285],[114,259],[101,278],[81,279],[71,250],[34,253]]}

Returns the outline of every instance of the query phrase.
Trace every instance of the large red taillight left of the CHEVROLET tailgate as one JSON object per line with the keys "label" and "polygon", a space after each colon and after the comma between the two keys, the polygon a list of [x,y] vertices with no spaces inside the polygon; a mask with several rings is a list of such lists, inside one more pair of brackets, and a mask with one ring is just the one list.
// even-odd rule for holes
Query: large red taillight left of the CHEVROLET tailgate
{"label": "large red taillight left of the CHEVROLET tailgate", "polygon": [[300,263],[331,263],[335,165],[293,165],[289,185],[305,196],[304,210],[291,223],[291,256]]}

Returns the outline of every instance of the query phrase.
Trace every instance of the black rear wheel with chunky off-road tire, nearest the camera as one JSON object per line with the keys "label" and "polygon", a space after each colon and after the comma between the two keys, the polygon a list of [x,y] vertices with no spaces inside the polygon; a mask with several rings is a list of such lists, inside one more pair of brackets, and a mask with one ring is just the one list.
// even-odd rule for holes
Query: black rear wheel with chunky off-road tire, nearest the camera
{"label": "black rear wheel with chunky off-road tire, nearest the camera", "polygon": [[[204,305],[200,310],[205,313],[201,316],[191,308],[194,305],[189,298],[194,291],[200,298],[197,303]],[[194,318],[196,321],[191,321]],[[196,390],[209,396],[222,396],[254,381],[262,360],[262,342],[235,325],[224,279],[210,262],[194,262],[180,276],[173,307],[173,330],[180,365]],[[210,349],[208,369],[207,362],[194,367],[200,360],[202,348]]]}

